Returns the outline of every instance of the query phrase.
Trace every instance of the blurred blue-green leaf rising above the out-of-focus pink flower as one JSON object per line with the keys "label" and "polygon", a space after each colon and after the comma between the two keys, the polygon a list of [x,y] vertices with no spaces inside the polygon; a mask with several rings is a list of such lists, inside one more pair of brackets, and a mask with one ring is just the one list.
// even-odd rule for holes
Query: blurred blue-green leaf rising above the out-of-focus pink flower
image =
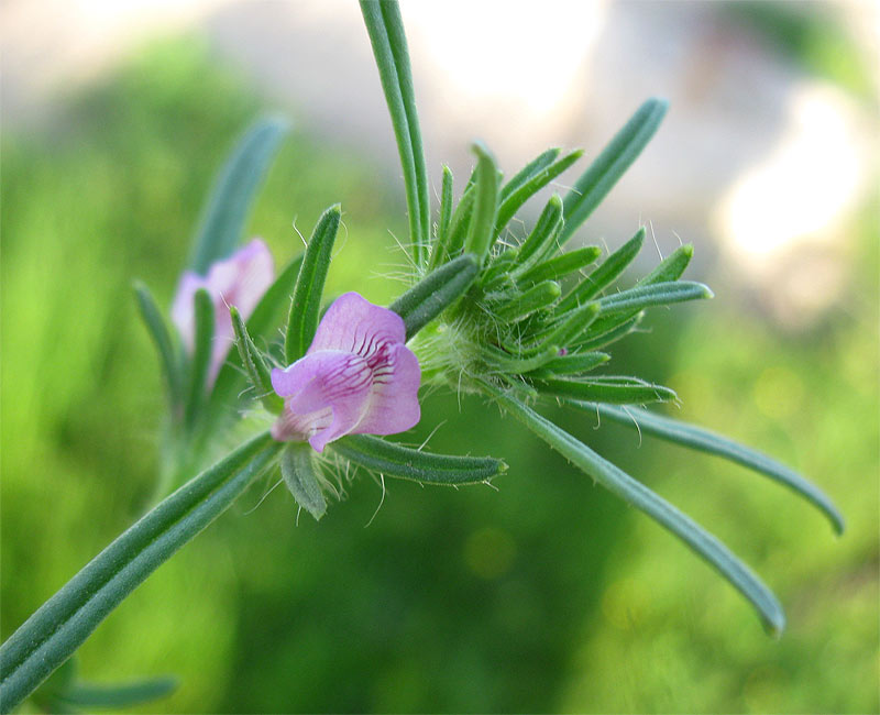
{"label": "blurred blue-green leaf rising above the out-of-focus pink flower", "polygon": [[193,242],[189,266],[199,275],[205,275],[215,261],[232,253],[241,241],[256,190],[288,129],[286,120],[262,119],[242,136],[227,160]]}

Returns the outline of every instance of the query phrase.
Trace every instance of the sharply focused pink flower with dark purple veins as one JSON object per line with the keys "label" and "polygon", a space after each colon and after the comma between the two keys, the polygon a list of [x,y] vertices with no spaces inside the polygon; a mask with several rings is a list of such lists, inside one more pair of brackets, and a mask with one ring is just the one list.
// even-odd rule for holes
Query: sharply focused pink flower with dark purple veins
{"label": "sharply focused pink flower with dark purple veins", "polygon": [[344,435],[394,435],[416,425],[421,371],[405,340],[396,312],[356,293],[340,296],[306,355],[272,371],[272,386],[285,398],[272,436],[308,440],[322,452]]}

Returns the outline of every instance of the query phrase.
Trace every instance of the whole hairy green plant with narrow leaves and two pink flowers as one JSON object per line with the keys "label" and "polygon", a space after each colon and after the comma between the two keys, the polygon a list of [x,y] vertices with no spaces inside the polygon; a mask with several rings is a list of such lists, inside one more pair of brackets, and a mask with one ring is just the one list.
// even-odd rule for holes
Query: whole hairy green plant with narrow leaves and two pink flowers
{"label": "whole hairy green plant with narrow leaves and two pink flowers", "polygon": [[[266,120],[245,135],[218,180],[189,272],[180,280],[172,309],[176,336],[146,287],[136,287],[168,388],[161,501],[2,646],[3,712],[56,669],[46,683],[50,698],[70,702],[78,692],[77,703],[94,706],[82,688],[77,690],[69,667],[61,667],[144,579],[276,466],[298,505],[316,518],[327,509],[328,470],[343,464],[452,485],[487,482],[503,473],[506,465],[499,459],[432,454],[381,438],[420,419],[418,391],[425,384],[477,394],[521,421],[585,474],[681,538],[751,602],[773,631],[784,626],[782,608],[745,564],[690,517],[542,416],[540,407],[559,403],[738,462],[807,498],[836,530],[843,529],[828,497],[788,468],[635,407],[674,400],[670,388],[596,372],[609,360],[604,351],[629,334],[647,309],[712,297],[706,286],[681,280],[692,255],[688,245],[635,286],[609,289],[639,252],[644,229],[598,263],[596,246],[562,250],[657,131],[666,102],[645,102],[572,189],[547,201],[525,240],[510,241],[512,220],[581,152],[549,150],[503,182],[491,152],[475,143],[475,168],[458,201],[452,173],[443,168],[432,226],[397,4],[362,0],[361,8],[404,169],[411,286],[388,308],[345,294],[321,318],[339,206],[323,213],[304,255],[277,276],[262,242],[237,250],[285,124]],[[275,337],[285,314],[280,343]],[[233,341],[237,350],[230,351]],[[255,399],[273,416],[272,429],[201,470],[222,443],[219,436]],[[122,689],[114,702],[131,704],[160,691]]]}

